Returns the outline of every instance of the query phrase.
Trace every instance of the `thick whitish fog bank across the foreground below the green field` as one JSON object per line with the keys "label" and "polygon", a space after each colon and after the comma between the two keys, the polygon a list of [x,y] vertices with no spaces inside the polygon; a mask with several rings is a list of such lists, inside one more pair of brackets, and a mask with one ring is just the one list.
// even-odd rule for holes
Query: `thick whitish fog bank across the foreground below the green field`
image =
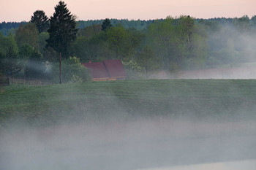
{"label": "thick whitish fog bank across the foreground below the green field", "polygon": [[[256,159],[252,120],[148,117],[4,128],[0,136],[0,165],[5,170],[174,169]],[[246,164],[248,169],[253,163]]]}

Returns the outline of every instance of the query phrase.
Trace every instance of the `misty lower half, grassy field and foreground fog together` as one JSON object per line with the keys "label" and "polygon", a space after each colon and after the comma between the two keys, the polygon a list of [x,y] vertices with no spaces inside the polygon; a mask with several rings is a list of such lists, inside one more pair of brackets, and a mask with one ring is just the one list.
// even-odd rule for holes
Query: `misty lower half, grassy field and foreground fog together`
{"label": "misty lower half, grassy field and foreground fog together", "polygon": [[19,112],[2,117],[0,165],[7,170],[175,169],[252,160],[245,166],[253,169],[254,84],[140,80],[6,87],[1,104],[10,104],[0,105],[1,111]]}

